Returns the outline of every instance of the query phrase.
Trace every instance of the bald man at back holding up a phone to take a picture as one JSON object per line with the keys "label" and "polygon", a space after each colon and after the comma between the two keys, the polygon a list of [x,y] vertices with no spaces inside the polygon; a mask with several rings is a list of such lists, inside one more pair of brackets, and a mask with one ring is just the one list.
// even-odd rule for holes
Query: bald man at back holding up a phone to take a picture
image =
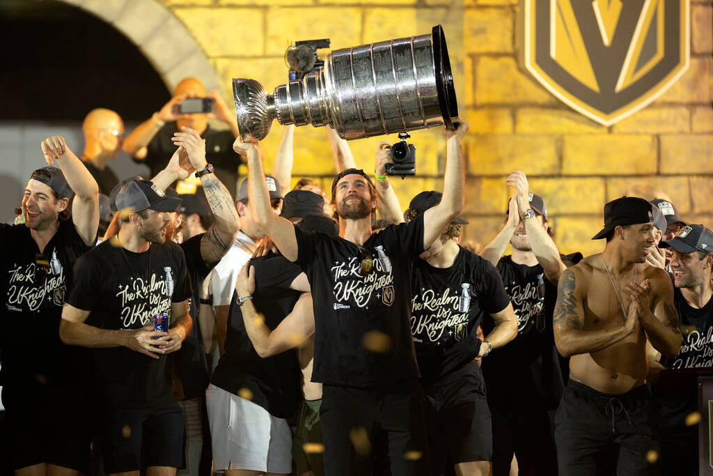
{"label": "bald man at back holding up a phone to take a picture", "polygon": [[[186,98],[211,98],[213,112],[177,113],[175,106],[180,106]],[[227,123],[230,131],[216,131],[210,128],[208,118],[216,118]],[[124,151],[136,163],[145,163],[150,168],[150,176],[155,177],[168,165],[175,152],[175,144],[171,141],[173,133],[185,132],[183,127],[197,131],[205,139],[205,158],[212,169],[210,172],[214,172],[231,195],[235,196],[237,166],[242,161],[241,157],[232,150],[232,141],[238,136],[235,114],[225,105],[225,101],[215,89],[212,89],[210,94],[206,93],[205,86],[198,79],[181,80],[176,86],[173,98],[126,137]],[[196,171],[196,176],[200,176],[201,172],[209,173],[209,171]]]}

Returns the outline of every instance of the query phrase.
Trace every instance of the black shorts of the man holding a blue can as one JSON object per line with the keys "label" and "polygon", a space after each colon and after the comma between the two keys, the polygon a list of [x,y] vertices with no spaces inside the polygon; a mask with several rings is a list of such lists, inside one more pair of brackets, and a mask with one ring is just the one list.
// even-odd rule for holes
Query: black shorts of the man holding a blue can
{"label": "black shorts of the man holding a blue can", "polygon": [[107,407],[103,413],[106,474],[151,466],[181,467],[183,412],[178,402],[155,408]]}

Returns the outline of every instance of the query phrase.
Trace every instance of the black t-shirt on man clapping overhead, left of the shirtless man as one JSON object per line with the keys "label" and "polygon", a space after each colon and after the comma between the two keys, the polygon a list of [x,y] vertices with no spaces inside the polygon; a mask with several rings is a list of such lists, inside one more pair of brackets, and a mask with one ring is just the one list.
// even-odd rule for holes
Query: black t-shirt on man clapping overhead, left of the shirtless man
{"label": "black t-shirt on man clapping overhead, left of the shirtless man", "polygon": [[[538,397],[547,407],[556,408],[564,390],[552,323],[557,286],[542,266],[514,263],[511,255],[503,256],[497,268],[513,303],[518,335],[483,358],[488,401],[509,405],[513,398]],[[488,324],[483,325],[485,335],[492,330]]]}

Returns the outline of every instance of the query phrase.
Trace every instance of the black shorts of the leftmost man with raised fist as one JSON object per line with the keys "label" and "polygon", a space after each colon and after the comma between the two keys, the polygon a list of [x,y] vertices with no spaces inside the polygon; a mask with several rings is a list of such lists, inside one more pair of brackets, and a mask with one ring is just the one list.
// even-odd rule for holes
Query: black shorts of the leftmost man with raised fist
{"label": "black shorts of the leftmost man with raised fist", "polygon": [[92,420],[88,401],[78,385],[4,386],[6,454],[12,469],[48,463],[87,473]]}

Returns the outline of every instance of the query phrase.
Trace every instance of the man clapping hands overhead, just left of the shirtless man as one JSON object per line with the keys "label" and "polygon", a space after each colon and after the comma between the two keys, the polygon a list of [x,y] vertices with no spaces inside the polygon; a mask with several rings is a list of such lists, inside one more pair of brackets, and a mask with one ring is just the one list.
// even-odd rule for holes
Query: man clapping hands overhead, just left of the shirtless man
{"label": "man clapping hands overhead, just left of the shirtless man", "polygon": [[[508,475],[513,454],[523,475],[556,474],[550,412],[564,388],[552,333],[557,280],[565,269],[552,240],[545,201],[530,193],[525,173],[506,179],[515,193],[503,229],[480,255],[496,266],[518,319],[518,335],[483,359],[493,412],[493,475]],[[503,256],[508,243],[512,255]],[[484,321],[483,333],[491,332]]]}

